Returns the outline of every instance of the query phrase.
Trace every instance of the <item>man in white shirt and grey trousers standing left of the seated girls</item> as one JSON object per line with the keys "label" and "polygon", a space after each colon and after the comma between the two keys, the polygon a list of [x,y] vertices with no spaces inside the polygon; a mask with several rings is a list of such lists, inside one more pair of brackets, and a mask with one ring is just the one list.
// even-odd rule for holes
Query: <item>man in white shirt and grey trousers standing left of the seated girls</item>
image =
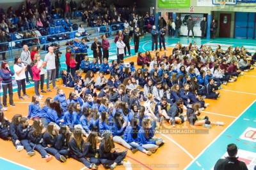
{"label": "man in white shirt and grey trousers standing left of the seated girls", "polygon": [[44,62],[46,64],[46,69],[47,69],[47,91],[51,92],[50,89],[50,80],[52,78],[52,86],[53,89],[58,89],[55,85],[55,76],[56,76],[56,64],[55,64],[55,54],[53,52],[53,47],[49,46],[48,48],[49,52],[45,55]]}

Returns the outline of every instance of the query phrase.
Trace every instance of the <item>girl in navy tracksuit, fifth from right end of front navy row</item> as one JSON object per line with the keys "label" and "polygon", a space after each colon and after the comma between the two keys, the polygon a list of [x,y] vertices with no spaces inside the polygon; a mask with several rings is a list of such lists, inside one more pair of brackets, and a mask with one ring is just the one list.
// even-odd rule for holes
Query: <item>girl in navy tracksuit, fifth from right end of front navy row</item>
{"label": "girl in navy tracksuit, fifth from right end of front navy row", "polygon": [[61,162],[66,162],[67,159],[63,155],[60,155],[58,150],[54,148],[57,136],[58,136],[58,130],[56,129],[56,126],[54,124],[49,124],[47,126],[46,131],[44,132],[43,146],[45,147],[46,152],[51,155],[54,155],[54,157],[57,160],[60,160]]}

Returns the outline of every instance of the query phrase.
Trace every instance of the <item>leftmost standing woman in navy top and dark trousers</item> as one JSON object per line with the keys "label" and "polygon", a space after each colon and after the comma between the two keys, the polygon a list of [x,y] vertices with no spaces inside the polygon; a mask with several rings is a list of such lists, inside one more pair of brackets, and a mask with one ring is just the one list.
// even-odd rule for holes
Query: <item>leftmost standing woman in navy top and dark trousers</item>
{"label": "leftmost standing woman in navy top and dark trousers", "polygon": [[3,87],[3,105],[7,108],[7,89],[9,92],[9,103],[11,106],[15,106],[13,104],[13,90],[12,90],[12,76],[14,75],[13,71],[10,70],[8,62],[4,60],[1,64],[0,76],[2,78],[2,87]]}

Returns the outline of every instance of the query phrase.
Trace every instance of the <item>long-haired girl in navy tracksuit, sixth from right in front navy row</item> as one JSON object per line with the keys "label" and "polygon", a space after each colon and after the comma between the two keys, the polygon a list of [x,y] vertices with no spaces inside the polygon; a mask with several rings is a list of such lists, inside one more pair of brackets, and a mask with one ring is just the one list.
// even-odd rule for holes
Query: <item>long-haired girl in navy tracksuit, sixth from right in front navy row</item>
{"label": "long-haired girl in navy tracksuit, sixth from right in front navy row", "polygon": [[48,155],[44,147],[42,146],[43,134],[45,130],[46,129],[45,128],[43,129],[42,127],[41,120],[36,119],[33,122],[31,131],[29,132],[28,136],[29,136],[31,148],[35,148],[35,150],[41,154],[41,157],[45,158],[45,160],[48,162],[52,159],[52,156]]}

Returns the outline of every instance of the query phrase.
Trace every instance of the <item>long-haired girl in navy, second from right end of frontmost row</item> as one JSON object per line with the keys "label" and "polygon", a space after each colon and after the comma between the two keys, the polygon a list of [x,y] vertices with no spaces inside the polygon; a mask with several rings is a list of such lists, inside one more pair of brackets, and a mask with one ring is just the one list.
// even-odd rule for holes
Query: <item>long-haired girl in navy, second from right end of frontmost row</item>
{"label": "long-haired girl in navy, second from right end of frontmost row", "polygon": [[91,132],[84,142],[84,156],[90,159],[90,162],[99,166],[99,150],[97,149],[97,132]]}

